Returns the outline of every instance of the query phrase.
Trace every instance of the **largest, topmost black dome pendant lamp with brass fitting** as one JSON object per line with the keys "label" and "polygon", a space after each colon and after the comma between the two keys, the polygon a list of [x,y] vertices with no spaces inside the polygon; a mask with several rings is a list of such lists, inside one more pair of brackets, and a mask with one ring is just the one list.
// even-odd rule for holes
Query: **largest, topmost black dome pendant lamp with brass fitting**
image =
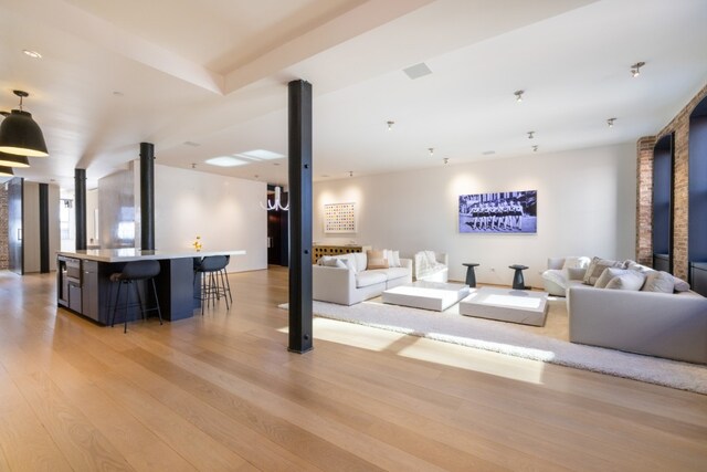
{"label": "largest, topmost black dome pendant lamp with brass fitting", "polygon": [[13,91],[20,97],[20,109],[13,109],[0,125],[0,151],[30,157],[49,156],[44,135],[32,114],[22,109],[27,92]]}

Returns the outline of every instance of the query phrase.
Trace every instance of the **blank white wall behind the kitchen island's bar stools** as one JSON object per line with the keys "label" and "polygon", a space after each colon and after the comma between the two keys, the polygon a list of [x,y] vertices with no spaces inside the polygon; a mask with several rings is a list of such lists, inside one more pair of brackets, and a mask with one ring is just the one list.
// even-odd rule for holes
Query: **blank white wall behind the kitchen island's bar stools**
{"label": "blank white wall behind the kitchen island's bar stools", "polygon": [[204,251],[243,249],[229,272],[267,269],[266,183],[155,166],[155,247]]}

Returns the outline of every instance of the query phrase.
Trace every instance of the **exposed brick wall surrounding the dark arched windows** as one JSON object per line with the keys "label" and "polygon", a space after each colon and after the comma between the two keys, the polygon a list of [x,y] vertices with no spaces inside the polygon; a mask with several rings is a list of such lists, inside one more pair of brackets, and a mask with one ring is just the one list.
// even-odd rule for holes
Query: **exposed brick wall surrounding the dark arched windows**
{"label": "exposed brick wall surrounding the dark arched windows", "polygon": [[[651,263],[653,148],[662,137],[675,133],[675,185],[673,189],[673,273],[687,280],[688,183],[689,183],[689,115],[707,96],[707,85],[656,136],[639,139],[639,199],[636,203],[636,260]],[[648,149],[650,147],[650,149]],[[647,189],[647,190],[646,190]],[[647,193],[646,193],[647,191]],[[647,241],[647,243],[646,243]],[[647,245],[646,245],[647,244]]]}

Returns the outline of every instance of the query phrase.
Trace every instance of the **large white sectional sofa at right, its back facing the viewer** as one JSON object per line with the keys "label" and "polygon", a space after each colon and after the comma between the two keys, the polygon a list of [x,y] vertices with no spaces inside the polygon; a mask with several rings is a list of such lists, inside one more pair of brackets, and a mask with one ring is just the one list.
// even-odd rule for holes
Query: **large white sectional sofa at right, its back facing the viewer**
{"label": "large white sectional sofa at right, its back facing the viewer", "polygon": [[[550,259],[550,269],[542,274],[547,292],[567,295],[570,342],[707,364],[707,298],[665,273],[669,293],[645,291],[646,286],[640,286],[641,279],[631,290],[614,290],[612,286],[622,284],[612,283],[610,270],[605,270],[604,275],[601,269],[590,274],[594,277],[589,282],[595,286],[588,285],[584,283],[588,269],[571,268],[573,263],[570,261],[568,268],[563,259]],[[656,274],[634,262],[624,261],[622,265],[632,269],[612,268],[611,271]],[[595,277],[598,272],[602,274]]]}

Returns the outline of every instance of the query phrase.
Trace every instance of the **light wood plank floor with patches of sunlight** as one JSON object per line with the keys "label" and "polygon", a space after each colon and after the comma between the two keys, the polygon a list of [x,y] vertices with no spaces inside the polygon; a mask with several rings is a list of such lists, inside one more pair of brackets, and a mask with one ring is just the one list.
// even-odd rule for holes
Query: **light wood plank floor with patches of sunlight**
{"label": "light wood plank floor with patches of sunlight", "polygon": [[707,397],[327,319],[287,272],[128,333],[0,272],[0,471],[707,470]]}

